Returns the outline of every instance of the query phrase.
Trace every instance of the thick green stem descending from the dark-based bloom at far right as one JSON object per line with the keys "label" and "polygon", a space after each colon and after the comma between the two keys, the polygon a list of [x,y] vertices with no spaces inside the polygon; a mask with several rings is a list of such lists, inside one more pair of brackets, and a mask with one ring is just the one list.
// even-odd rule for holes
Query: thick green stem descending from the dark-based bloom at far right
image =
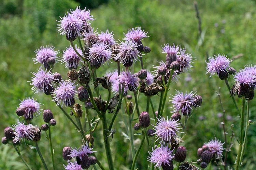
{"label": "thick green stem descending from the dark-based bloom at far right", "polygon": [[244,106],[245,106],[245,97],[242,98],[242,115],[241,115],[241,127],[240,127],[240,137],[239,137],[239,149],[236,161],[236,169],[239,170],[241,166],[241,153],[242,153],[242,145],[243,145],[243,135],[244,135]]}

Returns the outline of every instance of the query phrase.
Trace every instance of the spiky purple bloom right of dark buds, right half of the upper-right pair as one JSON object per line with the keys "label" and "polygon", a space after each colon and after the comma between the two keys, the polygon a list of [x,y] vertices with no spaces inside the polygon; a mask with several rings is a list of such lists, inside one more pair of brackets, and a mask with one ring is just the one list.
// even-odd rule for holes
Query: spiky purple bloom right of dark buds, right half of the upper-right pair
{"label": "spiky purple bloom right of dark buds, right half of the upper-right pair", "polygon": [[195,60],[193,57],[191,57],[191,54],[186,54],[186,48],[181,49],[180,54],[177,55],[177,62],[180,63],[180,71],[188,71],[190,70],[191,63],[194,63]]}

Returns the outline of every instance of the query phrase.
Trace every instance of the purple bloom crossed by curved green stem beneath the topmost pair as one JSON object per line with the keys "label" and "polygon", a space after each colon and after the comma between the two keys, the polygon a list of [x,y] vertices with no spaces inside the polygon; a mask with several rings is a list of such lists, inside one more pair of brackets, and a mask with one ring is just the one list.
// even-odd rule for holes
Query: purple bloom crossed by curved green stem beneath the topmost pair
{"label": "purple bloom crossed by curved green stem beneath the topmost pair", "polygon": [[[80,48],[77,48],[75,46],[75,49],[77,52],[79,52],[80,55],[83,54]],[[69,45],[65,51],[62,51],[62,53],[63,53],[63,59],[61,60],[62,64],[65,63],[66,68],[77,69],[79,62],[81,61],[81,58],[79,57],[79,55],[77,55],[73,47]]]}

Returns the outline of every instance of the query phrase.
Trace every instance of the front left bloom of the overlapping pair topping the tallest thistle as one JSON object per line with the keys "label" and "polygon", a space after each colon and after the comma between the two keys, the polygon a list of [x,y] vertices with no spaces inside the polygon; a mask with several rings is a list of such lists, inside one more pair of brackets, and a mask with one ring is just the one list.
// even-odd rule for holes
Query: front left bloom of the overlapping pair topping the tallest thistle
{"label": "front left bloom of the overlapping pair topping the tallest thistle", "polygon": [[83,20],[78,18],[74,13],[68,13],[62,17],[58,24],[58,32],[66,35],[68,40],[75,40],[77,36],[81,36],[83,31]]}

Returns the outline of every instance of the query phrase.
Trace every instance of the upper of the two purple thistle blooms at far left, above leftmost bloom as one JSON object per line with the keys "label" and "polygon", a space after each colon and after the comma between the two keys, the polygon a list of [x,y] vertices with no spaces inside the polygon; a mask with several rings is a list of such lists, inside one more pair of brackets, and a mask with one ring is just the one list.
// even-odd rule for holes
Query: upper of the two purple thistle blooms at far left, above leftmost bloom
{"label": "upper of the two purple thistle blooms at far left, above leftmost bloom", "polygon": [[34,98],[30,99],[29,97],[20,101],[19,107],[25,110],[24,118],[32,120],[33,114],[40,115],[40,104]]}

